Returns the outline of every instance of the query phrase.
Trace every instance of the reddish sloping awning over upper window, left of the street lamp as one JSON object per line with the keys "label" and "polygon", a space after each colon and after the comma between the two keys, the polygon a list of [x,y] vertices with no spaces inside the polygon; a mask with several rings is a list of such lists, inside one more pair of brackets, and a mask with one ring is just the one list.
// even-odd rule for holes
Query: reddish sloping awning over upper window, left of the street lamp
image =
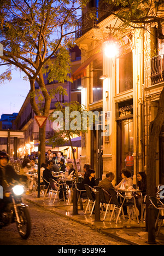
{"label": "reddish sloping awning over upper window, left of the street lamp", "polygon": [[86,77],[86,67],[93,61],[96,59],[96,57],[99,55],[100,53],[97,53],[93,56],[91,56],[89,59],[87,59],[86,61],[83,62],[83,64],[72,74],[71,79],[73,81],[81,78],[81,77]]}

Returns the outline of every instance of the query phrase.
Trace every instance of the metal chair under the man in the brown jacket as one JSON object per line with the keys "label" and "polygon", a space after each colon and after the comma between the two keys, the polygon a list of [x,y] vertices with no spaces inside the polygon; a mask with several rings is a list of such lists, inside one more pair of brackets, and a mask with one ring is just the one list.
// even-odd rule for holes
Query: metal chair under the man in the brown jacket
{"label": "metal chair under the man in the brown jacket", "polygon": [[[110,207],[109,207],[109,206],[111,206],[112,196],[109,195],[109,193],[108,193],[105,189],[103,189],[103,188],[101,188],[101,187],[98,187],[98,186],[97,186],[97,187],[95,187],[95,188],[96,188],[96,190],[99,192],[100,206],[101,206],[101,208],[102,208],[102,212],[103,212],[103,205],[104,205],[104,204],[106,205],[106,212],[105,212],[104,218],[103,218],[103,221],[104,221],[104,220],[106,219],[106,215],[107,215],[107,212],[108,212],[108,208],[109,208],[109,211],[110,211]],[[106,195],[109,196],[109,201],[107,201]]]}

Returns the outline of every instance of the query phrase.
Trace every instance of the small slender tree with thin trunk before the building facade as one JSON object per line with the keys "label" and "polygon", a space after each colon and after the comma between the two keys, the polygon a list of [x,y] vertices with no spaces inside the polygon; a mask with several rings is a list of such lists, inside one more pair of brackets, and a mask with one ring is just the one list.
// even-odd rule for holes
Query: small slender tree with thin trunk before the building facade
{"label": "small slender tree with thin trunk before the building facade", "polygon": [[83,123],[87,125],[87,117],[83,115],[86,108],[77,101],[61,103],[56,97],[57,93],[67,95],[66,90],[61,86],[50,90],[51,97],[55,97],[57,102],[55,103],[55,112],[49,117],[53,122],[55,130],[54,136],[49,139],[49,144],[55,148],[56,146],[62,146],[68,141],[70,142],[78,182],[78,169],[71,138],[74,135],[80,136],[81,132],[87,132],[87,130],[83,129]]}

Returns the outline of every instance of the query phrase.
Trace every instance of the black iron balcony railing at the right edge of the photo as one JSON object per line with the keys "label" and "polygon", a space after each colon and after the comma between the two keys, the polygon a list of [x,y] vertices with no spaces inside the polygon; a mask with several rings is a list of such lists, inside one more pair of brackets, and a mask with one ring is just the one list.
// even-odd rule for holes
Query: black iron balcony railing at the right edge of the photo
{"label": "black iron balcony railing at the right edge of the photo", "polygon": [[151,84],[161,83],[164,80],[164,54],[151,59]]}

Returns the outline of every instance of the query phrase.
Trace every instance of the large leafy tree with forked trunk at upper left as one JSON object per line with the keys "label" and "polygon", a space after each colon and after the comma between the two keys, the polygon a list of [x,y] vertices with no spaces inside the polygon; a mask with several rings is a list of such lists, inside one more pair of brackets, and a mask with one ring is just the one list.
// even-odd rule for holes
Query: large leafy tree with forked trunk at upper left
{"label": "large leafy tree with forked trunk at upper left", "polygon": [[[25,73],[30,82],[31,106],[36,115],[49,116],[51,97],[44,83],[44,73],[49,72],[49,81],[71,81],[68,73],[67,48],[74,43],[74,27],[77,11],[82,1],[67,0],[10,0],[0,1],[0,43],[3,56],[0,65],[7,70],[0,82],[11,79],[11,66]],[[44,97],[41,110],[36,100],[35,83]],[[42,128],[41,161],[45,161],[45,125]]]}

